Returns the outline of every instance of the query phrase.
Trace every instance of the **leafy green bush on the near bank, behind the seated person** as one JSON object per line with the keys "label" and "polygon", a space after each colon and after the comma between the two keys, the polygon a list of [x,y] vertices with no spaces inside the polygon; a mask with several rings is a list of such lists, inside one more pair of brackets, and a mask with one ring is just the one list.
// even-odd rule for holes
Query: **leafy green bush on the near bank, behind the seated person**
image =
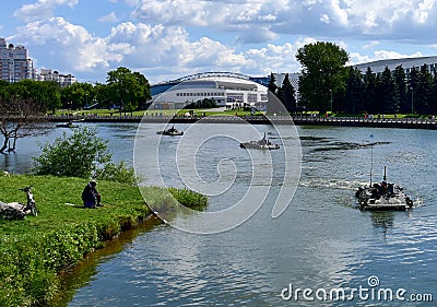
{"label": "leafy green bush on the near bank, behind the seated person", "polygon": [[37,175],[90,178],[104,164],[110,162],[107,141],[97,138],[97,129],[82,127],[66,132],[51,144],[39,144],[40,156],[34,158]]}

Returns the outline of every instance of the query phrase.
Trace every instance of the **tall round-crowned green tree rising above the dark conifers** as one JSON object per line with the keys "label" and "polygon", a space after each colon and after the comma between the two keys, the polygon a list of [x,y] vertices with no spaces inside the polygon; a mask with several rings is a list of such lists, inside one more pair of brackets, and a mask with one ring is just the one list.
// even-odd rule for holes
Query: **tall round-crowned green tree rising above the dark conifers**
{"label": "tall round-crowned green tree rising above the dark conifers", "polygon": [[349,56],[332,43],[318,42],[299,48],[296,59],[303,70],[299,76],[299,103],[307,109],[331,108],[333,96],[344,92]]}

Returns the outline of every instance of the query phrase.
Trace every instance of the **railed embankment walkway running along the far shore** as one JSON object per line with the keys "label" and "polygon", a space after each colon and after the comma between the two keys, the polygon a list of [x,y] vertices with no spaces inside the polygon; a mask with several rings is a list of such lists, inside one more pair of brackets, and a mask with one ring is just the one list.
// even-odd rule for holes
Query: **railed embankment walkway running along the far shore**
{"label": "railed embankment walkway running along the far shore", "polygon": [[[292,120],[291,120],[292,119]],[[68,115],[46,116],[45,120],[67,122],[69,120],[83,120],[85,122],[170,122],[170,123],[251,123],[251,125],[296,125],[296,126],[347,126],[373,128],[406,128],[406,129],[437,129],[435,119],[425,118],[359,118],[359,117],[311,117],[311,116],[164,116],[147,115],[132,116],[130,114],[117,116],[97,115]]]}

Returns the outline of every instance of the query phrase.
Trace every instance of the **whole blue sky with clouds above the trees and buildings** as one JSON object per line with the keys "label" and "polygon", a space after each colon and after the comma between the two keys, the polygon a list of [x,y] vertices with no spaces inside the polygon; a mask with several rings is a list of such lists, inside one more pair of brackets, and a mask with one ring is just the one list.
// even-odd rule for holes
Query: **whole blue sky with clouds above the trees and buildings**
{"label": "whole blue sky with clouds above the trees and buildings", "polygon": [[437,0],[0,0],[0,37],[81,82],[117,67],[151,83],[297,72],[297,49],[317,40],[352,64],[437,54]]}

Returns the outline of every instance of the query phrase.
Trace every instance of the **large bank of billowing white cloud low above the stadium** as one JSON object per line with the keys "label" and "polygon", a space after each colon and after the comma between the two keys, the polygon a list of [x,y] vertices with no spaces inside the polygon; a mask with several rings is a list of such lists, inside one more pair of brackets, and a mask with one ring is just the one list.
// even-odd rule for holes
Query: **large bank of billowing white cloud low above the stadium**
{"label": "large bank of billowing white cloud low above the stadium", "polygon": [[146,76],[153,72],[151,82],[162,81],[164,75],[178,78],[202,71],[257,75],[296,71],[298,63],[294,55],[297,48],[315,42],[302,39],[296,44],[270,44],[261,49],[237,51],[209,37],[191,40],[180,26],[126,22],[113,27],[108,36],[97,37],[62,17],[28,23],[20,33],[15,40],[28,42],[29,50],[45,50],[36,54],[36,60],[43,67],[50,68],[45,64],[50,61],[57,64],[51,69],[78,75],[98,73],[103,78],[107,71],[125,66]]}

